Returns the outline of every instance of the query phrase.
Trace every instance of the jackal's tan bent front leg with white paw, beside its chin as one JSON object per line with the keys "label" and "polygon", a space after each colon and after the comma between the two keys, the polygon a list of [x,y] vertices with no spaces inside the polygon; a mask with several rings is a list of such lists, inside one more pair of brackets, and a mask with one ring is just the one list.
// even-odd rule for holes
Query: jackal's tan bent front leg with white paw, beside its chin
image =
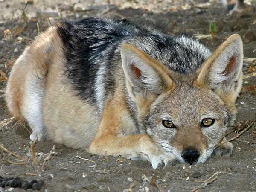
{"label": "jackal's tan bent front leg with white paw, beside its chin", "polygon": [[141,158],[151,162],[153,169],[167,165],[175,159],[147,134],[119,136],[120,130],[126,122],[125,108],[110,102],[102,113],[98,132],[89,147],[89,152],[101,155],[121,155],[128,159]]}

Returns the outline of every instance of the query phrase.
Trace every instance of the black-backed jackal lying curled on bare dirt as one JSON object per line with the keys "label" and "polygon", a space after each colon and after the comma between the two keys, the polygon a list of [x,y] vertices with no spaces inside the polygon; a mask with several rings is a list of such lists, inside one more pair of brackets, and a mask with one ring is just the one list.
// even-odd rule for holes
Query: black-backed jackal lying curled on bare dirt
{"label": "black-backed jackal lying curled on bare dirt", "polygon": [[[73,148],[151,162],[204,162],[236,116],[243,45],[214,53],[194,38],[126,20],[61,21],[15,62],[9,111]],[[232,153],[231,143],[225,150]]]}

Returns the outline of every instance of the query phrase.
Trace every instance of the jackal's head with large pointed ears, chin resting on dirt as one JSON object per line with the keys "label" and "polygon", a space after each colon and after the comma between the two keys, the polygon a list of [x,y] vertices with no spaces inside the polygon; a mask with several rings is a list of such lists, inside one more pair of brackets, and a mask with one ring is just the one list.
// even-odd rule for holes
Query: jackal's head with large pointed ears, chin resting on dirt
{"label": "jackal's head with large pointed ears, chin resting on dirt", "polygon": [[241,37],[231,35],[188,74],[169,70],[130,44],[122,45],[121,57],[128,95],[145,131],[181,163],[207,160],[236,116]]}

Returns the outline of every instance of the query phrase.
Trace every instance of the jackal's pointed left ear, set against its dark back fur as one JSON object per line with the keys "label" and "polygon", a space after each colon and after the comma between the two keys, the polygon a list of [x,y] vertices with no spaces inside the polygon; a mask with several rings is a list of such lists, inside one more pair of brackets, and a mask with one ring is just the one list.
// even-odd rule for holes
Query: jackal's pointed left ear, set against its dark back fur
{"label": "jackal's pointed left ear, set against its dark back fur", "polygon": [[145,97],[148,92],[159,95],[174,86],[168,69],[145,52],[130,44],[121,47],[122,67],[128,88]]}

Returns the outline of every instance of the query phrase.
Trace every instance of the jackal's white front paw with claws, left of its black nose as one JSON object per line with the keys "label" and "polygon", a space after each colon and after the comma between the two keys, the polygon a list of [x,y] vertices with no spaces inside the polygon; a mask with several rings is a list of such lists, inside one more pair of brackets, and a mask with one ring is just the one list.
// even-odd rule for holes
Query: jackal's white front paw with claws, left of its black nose
{"label": "jackal's white front paw with claws, left of its black nose", "polygon": [[175,156],[169,153],[164,153],[160,155],[150,155],[150,156],[141,153],[140,157],[143,160],[148,160],[151,163],[153,169],[167,166],[168,163],[175,160]]}

